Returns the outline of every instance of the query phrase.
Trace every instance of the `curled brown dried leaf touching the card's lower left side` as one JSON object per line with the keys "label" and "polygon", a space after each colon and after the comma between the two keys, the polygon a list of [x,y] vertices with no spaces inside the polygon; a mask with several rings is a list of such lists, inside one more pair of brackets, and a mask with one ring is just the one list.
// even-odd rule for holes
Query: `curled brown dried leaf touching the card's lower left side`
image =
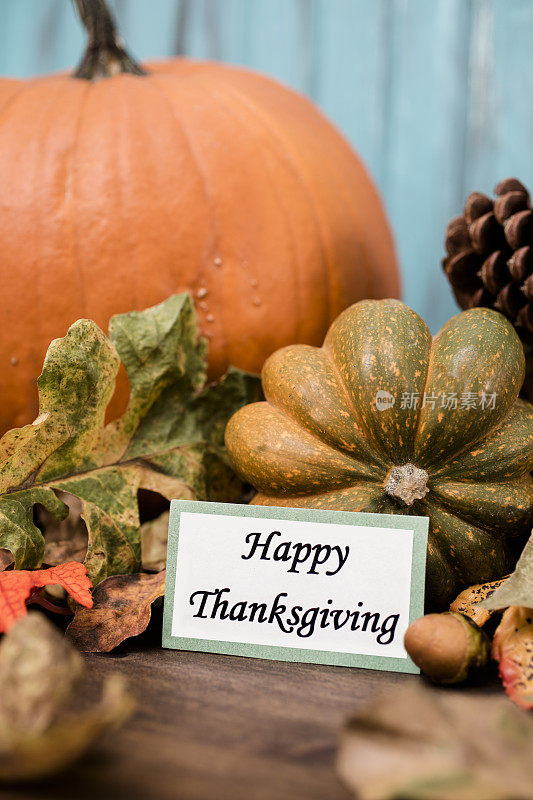
{"label": "curled brown dried leaf touching the card's lower left side", "polygon": [[146,630],[152,603],[164,594],[165,570],[106,578],[94,590],[93,608],[76,609],[67,634],[80,650],[108,653]]}

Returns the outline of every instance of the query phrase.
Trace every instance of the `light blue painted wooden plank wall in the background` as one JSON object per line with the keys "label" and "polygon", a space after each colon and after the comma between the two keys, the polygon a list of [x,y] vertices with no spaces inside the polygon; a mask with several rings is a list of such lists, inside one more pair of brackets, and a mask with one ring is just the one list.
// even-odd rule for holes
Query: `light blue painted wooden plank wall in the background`
{"label": "light blue painted wooden plank wall in the background", "polygon": [[[137,58],[245,64],[312,97],[385,198],[404,298],[432,329],[455,313],[440,259],[471,189],[533,187],[533,0],[113,0]],[[75,64],[68,0],[0,0],[0,74]]]}

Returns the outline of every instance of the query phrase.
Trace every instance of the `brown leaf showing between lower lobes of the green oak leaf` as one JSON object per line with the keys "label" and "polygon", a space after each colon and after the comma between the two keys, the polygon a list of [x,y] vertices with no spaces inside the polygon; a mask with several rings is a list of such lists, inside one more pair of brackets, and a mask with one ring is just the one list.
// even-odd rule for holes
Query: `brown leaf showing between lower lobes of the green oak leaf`
{"label": "brown leaf showing between lower lobes of the green oak leaf", "polygon": [[83,506],[79,497],[68,492],[56,492],[68,506],[68,516],[57,520],[39,506],[39,527],[44,533],[43,563],[54,567],[65,561],[83,561],[87,555],[87,527],[82,519]]}

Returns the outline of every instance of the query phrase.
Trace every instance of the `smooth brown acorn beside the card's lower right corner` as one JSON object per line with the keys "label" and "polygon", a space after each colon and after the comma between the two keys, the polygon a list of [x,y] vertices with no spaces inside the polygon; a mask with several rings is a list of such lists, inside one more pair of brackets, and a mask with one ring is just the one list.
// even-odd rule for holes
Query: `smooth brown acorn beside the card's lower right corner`
{"label": "smooth brown acorn beside the card's lower right corner", "polygon": [[426,614],[407,629],[404,645],[411,659],[437,683],[461,683],[490,657],[490,641],[464,614]]}

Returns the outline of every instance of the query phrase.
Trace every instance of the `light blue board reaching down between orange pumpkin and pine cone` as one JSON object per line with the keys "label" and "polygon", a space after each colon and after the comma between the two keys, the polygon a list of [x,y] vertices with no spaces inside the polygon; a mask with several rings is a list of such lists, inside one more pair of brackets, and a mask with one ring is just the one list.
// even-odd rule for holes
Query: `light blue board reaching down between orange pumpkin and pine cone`
{"label": "light blue board reaching down between orange pumpkin and pine cone", "polygon": [[447,220],[461,202],[469,4],[395,0],[389,6],[383,190],[405,298],[435,332],[456,310],[440,259]]}

